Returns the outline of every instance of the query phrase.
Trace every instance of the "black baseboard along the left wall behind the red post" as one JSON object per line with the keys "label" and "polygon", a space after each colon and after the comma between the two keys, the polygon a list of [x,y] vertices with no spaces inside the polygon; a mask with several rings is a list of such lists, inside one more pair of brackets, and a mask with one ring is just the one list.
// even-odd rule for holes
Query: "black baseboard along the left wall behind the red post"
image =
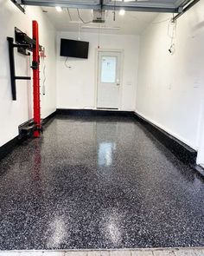
{"label": "black baseboard along the left wall behind the red post", "polygon": [[[42,125],[46,126],[48,124],[49,121],[51,121],[54,117],[54,115],[56,115],[56,111],[54,111],[52,114],[48,115],[46,118],[42,119],[41,123]],[[32,121],[29,120],[29,121]],[[29,121],[24,122],[22,125],[20,125],[19,127],[21,128],[21,126],[26,125],[27,123],[29,123]],[[5,143],[2,147],[0,147],[0,161],[7,156],[8,154],[10,154],[12,152],[12,150],[16,147],[18,147],[19,145],[22,144],[23,141],[25,141],[27,138],[26,137],[20,137],[19,135],[16,136],[14,139],[8,141],[7,143]]]}

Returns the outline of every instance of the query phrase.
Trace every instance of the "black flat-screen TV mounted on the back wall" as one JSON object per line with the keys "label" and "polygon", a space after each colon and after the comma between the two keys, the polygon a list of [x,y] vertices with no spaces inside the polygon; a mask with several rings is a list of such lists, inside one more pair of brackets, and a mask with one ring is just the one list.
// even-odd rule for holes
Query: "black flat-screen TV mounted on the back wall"
{"label": "black flat-screen TV mounted on the back wall", "polygon": [[61,38],[61,56],[88,58],[88,42]]}

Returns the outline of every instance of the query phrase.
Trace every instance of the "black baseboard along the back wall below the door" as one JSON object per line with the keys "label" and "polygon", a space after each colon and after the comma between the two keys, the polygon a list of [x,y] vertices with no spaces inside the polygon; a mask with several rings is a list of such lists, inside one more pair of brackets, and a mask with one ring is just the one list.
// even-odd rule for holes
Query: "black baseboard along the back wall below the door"
{"label": "black baseboard along the back wall below the door", "polygon": [[134,111],[120,111],[107,109],[71,109],[57,108],[56,115],[75,115],[75,116],[133,116]]}

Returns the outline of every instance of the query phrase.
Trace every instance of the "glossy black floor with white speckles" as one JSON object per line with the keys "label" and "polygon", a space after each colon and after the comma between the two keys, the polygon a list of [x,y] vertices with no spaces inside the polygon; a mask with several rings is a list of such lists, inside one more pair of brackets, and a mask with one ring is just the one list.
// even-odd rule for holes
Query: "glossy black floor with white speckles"
{"label": "glossy black floor with white speckles", "polygon": [[1,250],[204,246],[204,181],[131,118],[56,117],[0,170]]}

